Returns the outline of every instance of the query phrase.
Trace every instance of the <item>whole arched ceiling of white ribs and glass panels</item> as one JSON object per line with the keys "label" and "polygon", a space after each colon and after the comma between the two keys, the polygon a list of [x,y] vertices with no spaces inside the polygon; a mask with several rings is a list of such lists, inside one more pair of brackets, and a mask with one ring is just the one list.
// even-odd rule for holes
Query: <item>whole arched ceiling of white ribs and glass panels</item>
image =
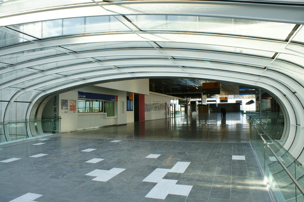
{"label": "whole arched ceiling of white ribs and glass panels", "polygon": [[[0,2],[1,121],[73,86],[199,78],[271,91],[304,155],[303,1]],[[17,108],[22,108],[18,113]]]}

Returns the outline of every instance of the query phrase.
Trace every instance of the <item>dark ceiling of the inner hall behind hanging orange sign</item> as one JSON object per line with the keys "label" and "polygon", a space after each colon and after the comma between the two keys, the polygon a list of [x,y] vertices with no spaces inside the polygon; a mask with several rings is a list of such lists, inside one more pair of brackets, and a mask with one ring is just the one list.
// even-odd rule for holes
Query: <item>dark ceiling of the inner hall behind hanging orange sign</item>
{"label": "dark ceiling of the inner hall behind hanging orange sign", "polygon": [[[202,96],[203,82],[217,81],[188,78],[153,78],[149,79],[149,86],[151,92],[158,92],[182,98],[199,98]],[[238,95],[239,84],[220,81],[220,94]]]}

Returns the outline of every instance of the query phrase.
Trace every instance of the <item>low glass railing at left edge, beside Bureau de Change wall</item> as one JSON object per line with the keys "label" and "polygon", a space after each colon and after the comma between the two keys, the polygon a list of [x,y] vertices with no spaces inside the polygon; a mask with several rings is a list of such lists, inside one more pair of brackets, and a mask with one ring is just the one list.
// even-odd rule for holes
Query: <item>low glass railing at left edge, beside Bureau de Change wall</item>
{"label": "low glass railing at left edge, beside Bureau de Change wall", "polygon": [[0,143],[60,133],[60,117],[0,123]]}

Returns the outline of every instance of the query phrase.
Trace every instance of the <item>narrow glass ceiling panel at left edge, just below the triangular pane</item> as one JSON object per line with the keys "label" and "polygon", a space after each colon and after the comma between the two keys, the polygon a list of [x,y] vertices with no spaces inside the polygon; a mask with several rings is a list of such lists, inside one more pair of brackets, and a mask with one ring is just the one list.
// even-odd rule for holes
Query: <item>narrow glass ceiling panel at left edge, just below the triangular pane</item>
{"label": "narrow glass ceiling panel at left edge, just below the triangular pane", "polygon": [[17,64],[25,61],[34,60],[37,58],[44,58],[49,56],[65,54],[65,52],[68,51],[58,46],[36,48],[36,49],[31,49],[29,51],[22,51],[14,54],[0,56],[0,62]]}

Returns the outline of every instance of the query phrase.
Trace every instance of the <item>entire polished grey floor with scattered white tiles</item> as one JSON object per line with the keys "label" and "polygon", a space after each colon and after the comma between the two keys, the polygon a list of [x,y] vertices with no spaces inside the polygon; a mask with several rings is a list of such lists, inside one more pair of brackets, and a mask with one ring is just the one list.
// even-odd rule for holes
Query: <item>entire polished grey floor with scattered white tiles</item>
{"label": "entire polished grey floor with scattered white tiles", "polygon": [[3,145],[0,201],[271,201],[250,138],[211,114]]}

